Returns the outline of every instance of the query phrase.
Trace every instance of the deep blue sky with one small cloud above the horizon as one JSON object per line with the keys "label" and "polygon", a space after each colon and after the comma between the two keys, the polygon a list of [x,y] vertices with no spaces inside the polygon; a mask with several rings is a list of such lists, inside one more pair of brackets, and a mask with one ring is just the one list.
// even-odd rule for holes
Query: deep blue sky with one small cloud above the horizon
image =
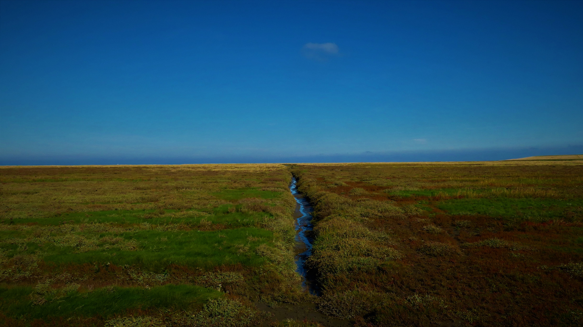
{"label": "deep blue sky with one small cloud above the horizon", "polygon": [[581,1],[1,1],[0,164],[578,151],[581,58]]}

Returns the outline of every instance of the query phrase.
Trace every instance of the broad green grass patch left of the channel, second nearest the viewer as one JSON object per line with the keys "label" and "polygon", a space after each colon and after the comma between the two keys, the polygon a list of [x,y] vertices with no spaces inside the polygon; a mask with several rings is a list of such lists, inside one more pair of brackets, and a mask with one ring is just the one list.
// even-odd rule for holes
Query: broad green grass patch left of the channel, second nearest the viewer
{"label": "broad green grass patch left of the channel, second nearest the viewer", "polygon": [[[88,232],[87,236],[90,236]],[[27,244],[27,252],[37,253],[46,262],[55,264],[97,263],[115,265],[140,265],[152,271],[159,271],[170,264],[195,266],[210,269],[217,265],[241,263],[247,266],[261,265],[265,259],[254,253],[254,248],[273,239],[269,230],[258,228],[225,229],[212,232],[198,230],[141,230],[121,234],[101,233],[104,236],[120,236],[125,240],[138,243],[136,251],[121,250],[115,247],[100,247],[99,250],[79,250],[73,242],[71,246],[46,244],[42,248],[37,243]],[[258,240],[250,237],[255,237]],[[40,252],[39,252],[40,251]],[[16,250],[7,253],[16,254]]]}

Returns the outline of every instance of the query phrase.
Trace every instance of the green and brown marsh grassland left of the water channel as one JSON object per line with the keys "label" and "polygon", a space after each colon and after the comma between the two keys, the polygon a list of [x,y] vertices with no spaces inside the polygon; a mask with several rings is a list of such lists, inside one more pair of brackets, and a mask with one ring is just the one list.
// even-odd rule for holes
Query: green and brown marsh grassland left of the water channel
{"label": "green and brown marsh grassland left of the water channel", "polygon": [[251,301],[305,297],[289,182],[282,165],[0,168],[0,324],[254,324]]}

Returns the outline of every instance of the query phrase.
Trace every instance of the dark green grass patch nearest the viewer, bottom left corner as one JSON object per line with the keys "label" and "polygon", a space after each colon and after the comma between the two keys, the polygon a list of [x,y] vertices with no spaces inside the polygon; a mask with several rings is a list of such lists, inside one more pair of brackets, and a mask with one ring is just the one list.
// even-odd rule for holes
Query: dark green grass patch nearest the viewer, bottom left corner
{"label": "dark green grass patch nearest the viewer, bottom left corner", "polygon": [[143,287],[104,287],[91,293],[73,291],[64,297],[47,298],[47,303],[33,305],[32,287],[0,288],[0,311],[12,317],[110,317],[127,309],[173,308],[187,310],[201,307],[219,298],[222,292],[200,286],[164,285]]}

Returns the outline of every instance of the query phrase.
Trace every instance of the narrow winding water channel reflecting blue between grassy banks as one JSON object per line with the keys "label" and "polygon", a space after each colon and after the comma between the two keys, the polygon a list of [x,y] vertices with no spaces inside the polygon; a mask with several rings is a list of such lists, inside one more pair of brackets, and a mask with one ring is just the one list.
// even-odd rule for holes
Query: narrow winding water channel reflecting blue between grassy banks
{"label": "narrow winding water channel reflecting blue between grassy banks", "polygon": [[310,294],[319,295],[319,290],[315,282],[314,276],[308,271],[305,266],[305,261],[312,254],[312,206],[310,202],[301,193],[298,192],[296,186],[296,177],[291,177],[290,191],[296,198],[296,212],[294,218],[296,219],[296,272],[303,278],[301,285],[307,289]]}

